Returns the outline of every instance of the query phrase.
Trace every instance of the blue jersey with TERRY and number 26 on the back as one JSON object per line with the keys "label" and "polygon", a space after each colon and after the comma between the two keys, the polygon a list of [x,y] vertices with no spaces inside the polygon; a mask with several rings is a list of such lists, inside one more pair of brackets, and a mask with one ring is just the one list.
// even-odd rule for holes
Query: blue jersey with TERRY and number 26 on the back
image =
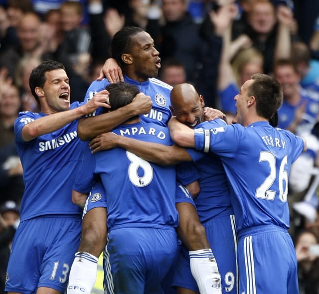
{"label": "blue jersey with TERRY and number 26 on the back", "polygon": [[248,127],[206,124],[195,130],[195,147],[221,157],[234,190],[232,206],[239,231],[266,224],[289,228],[288,175],[304,149],[302,138],[268,122]]}

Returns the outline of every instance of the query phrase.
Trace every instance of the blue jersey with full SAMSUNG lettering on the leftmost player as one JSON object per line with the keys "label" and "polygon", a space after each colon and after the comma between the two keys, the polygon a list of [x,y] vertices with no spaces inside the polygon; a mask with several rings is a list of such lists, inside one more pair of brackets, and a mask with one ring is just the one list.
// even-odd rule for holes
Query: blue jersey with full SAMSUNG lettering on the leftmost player
{"label": "blue jersey with full SAMSUNG lettering on the leftmost player", "polygon": [[[75,102],[71,109],[79,105]],[[47,214],[82,214],[81,209],[72,203],[71,195],[74,171],[87,143],[78,139],[78,120],[55,132],[24,142],[22,128],[44,116],[47,115],[22,112],[14,123],[15,143],[25,185],[21,221]]]}

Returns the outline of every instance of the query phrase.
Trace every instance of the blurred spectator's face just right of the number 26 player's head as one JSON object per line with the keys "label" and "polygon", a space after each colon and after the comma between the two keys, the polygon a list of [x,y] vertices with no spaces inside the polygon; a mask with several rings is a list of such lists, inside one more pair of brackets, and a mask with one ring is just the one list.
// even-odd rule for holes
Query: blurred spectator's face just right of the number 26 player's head
{"label": "blurred spectator's face just right of the number 26 player's head", "polygon": [[300,77],[292,65],[278,65],[274,70],[274,77],[283,88],[284,97],[290,97],[298,92]]}

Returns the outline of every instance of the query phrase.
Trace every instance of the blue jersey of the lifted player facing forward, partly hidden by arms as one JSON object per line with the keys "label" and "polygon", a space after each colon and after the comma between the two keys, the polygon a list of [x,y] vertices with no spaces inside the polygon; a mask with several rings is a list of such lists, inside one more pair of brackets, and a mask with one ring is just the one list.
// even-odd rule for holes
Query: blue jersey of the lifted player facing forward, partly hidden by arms
{"label": "blue jersey of the lifted player facing forward, partly hidden by arms", "polygon": [[[168,84],[161,82],[158,79],[151,78],[146,82],[140,83],[124,76],[124,81],[128,84],[137,86],[140,92],[151,97],[153,106],[149,114],[141,116],[141,121],[146,123],[155,123],[165,127],[171,118],[170,105],[170,91],[172,89]],[[107,79],[102,81],[94,81],[88,91],[86,92],[84,102],[91,99],[96,92],[102,91],[109,85]],[[104,112],[104,109],[97,109],[93,115],[98,115]]]}

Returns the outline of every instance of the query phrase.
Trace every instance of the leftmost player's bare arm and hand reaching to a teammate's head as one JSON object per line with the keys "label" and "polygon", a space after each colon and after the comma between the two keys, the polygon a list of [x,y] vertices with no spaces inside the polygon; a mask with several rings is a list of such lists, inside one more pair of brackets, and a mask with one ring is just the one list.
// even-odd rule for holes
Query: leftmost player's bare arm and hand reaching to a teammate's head
{"label": "leftmost player's bare arm and hand reaching to a teammate's head", "polygon": [[103,90],[94,96],[88,103],[83,104],[77,108],[56,112],[39,119],[33,120],[26,124],[22,129],[22,139],[25,142],[29,142],[44,134],[49,134],[59,130],[65,125],[73,122],[82,116],[89,115],[98,107],[110,106],[105,102],[108,101],[108,91]]}

